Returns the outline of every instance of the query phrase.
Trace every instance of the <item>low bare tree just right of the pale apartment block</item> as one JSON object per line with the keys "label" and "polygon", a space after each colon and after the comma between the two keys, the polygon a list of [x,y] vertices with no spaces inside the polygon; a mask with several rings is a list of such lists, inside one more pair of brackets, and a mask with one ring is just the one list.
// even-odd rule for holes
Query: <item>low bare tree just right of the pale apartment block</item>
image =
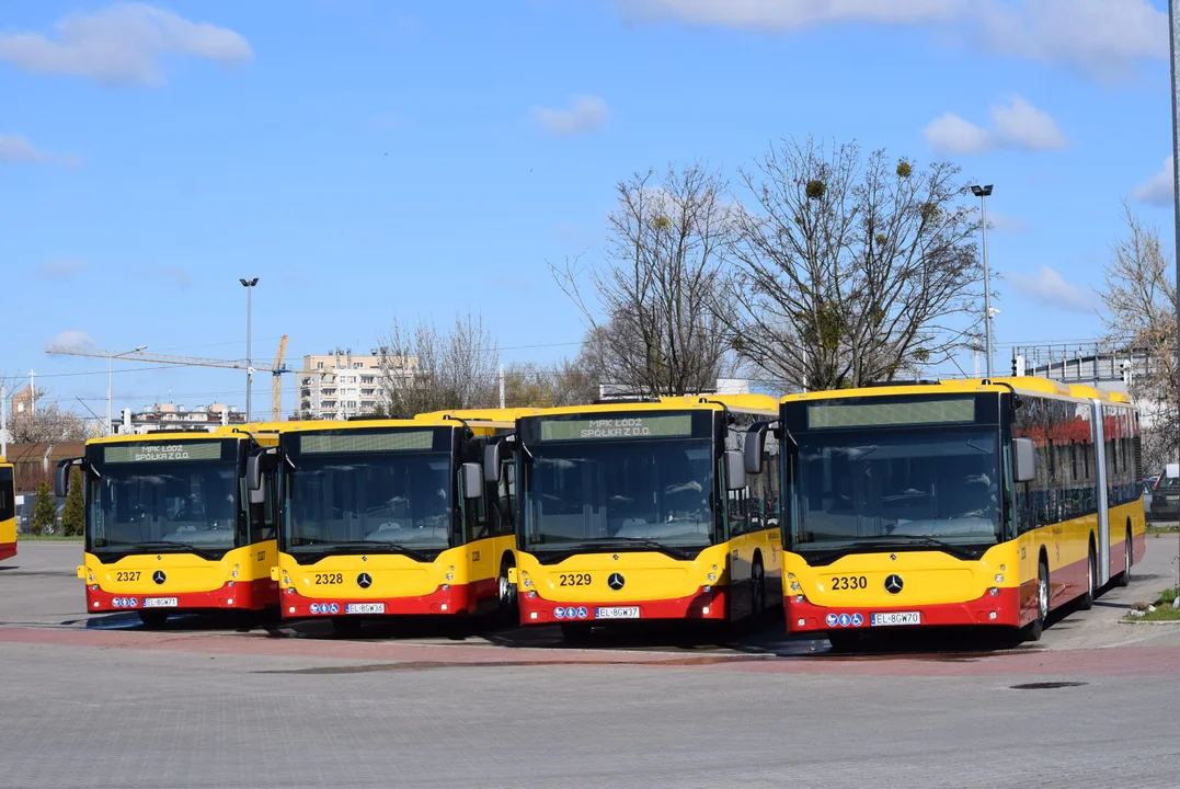
{"label": "low bare tree just right of the pale apartment block", "polygon": [[380,341],[381,406],[389,414],[479,408],[496,401],[499,348],[483,316],[455,315],[450,331],[394,318]]}

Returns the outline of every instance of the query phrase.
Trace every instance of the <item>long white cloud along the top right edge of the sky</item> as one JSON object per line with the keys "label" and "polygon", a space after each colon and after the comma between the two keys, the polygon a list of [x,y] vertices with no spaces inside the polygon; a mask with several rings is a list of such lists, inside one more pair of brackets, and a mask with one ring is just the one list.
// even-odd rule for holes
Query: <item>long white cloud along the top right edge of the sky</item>
{"label": "long white cloud along the top right edge of the sky", "polygon": [[820,25],[926,27],[981,50],[1125,75],[1168,57],[1167,18],[1150,0],[615,0],[628,22],[771,33]]}

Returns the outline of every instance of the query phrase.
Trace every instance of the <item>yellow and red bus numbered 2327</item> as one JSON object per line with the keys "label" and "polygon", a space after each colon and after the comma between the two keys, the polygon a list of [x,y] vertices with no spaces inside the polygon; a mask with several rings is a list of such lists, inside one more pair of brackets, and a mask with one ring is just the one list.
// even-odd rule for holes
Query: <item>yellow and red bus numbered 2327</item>
{"label": "yellow and red bus numbered 2327", "polygon": [[58,495],[74,466],[85,485],[86,609],[135,611],[159,627],[170,614],[276,607],[274,497],[247,479],[277,429],[91,439],[84,456],[58,463]]}

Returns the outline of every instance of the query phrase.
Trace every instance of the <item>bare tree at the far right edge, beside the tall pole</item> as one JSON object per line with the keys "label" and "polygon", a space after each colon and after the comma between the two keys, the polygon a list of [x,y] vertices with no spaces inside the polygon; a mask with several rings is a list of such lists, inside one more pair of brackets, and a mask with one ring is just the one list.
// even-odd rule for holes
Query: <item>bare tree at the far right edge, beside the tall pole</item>
{"label": "bare tree at the far right edge, beside the tall pole", "polygon": [[1176,459],[1180,413],[1176,407],[1176,285],[1172,259],[1155,228],[1143,225],[1123,204],[1127,237],[1112,246],[1106,267],[1108,341],[1147,355],[1147,370],[1132,380],[1142,412],[1143,463],[1159,469]]}

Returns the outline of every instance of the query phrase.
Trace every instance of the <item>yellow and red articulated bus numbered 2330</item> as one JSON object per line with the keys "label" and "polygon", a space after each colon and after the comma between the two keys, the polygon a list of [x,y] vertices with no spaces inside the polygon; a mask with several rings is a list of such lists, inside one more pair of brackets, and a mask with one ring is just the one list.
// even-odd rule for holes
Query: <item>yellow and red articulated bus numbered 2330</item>
{"label": "yellow and red articulated bus numbered 2330", "polygon": [[[787,631],[995,625],[1028,640],[1146,547],[1129,400],[1031,377],[788,395]],[[756,462],[756,442],[748,465]],[[1021,629],[1021,630],[1017,630]]]}

